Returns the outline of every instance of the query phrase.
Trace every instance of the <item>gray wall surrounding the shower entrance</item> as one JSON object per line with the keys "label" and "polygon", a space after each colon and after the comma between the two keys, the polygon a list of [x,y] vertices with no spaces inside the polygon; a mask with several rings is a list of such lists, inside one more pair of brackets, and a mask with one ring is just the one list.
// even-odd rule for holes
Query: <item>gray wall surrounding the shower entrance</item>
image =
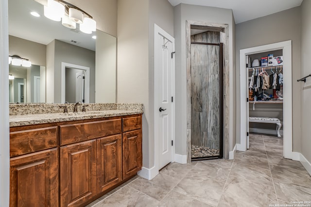
{"label": "gray wall surrounding the shower entrance", "polygon": [[189,4],[179,4],[174,7],[174,35],[175,35],[175,94],[176,94],[176,146],[175,153],[180,155],[187,154],[187,117],[186,117],[186,101],[187,101],[187,76],[186,76],[186,20],[204,21],[209,23],[220,23],[229,25],[229,150],[231,151],[235,145],[233,134],[234,126],[234,99],[233,90],[235,80],[233,80],[233,31],[234,20],[232,10],[216,7],[194,6]]}

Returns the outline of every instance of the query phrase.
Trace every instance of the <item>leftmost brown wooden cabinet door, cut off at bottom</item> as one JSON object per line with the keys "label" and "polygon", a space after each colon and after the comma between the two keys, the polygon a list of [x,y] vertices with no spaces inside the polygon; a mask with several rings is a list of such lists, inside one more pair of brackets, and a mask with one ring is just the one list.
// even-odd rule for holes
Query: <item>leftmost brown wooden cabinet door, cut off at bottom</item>
{"label": "leftmost brown wooden cabinet door, cut off at bottom", "polygon": [[57,148],[10,159],[10,207],[57,207]]}

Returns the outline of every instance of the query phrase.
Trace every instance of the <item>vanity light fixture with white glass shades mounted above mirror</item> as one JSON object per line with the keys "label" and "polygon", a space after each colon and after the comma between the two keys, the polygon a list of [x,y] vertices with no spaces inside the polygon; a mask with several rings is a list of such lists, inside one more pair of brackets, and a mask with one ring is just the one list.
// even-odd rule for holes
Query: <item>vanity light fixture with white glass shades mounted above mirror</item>
{"label": "vanity light fixture with white glass shades mounted above mirror", "polygon": [[44,16],[54,21],[62,20],[62,25],[70,29],[75,29],[78,23],[80,31],[87,34],[96,31],[96,21],[92,16],[64,0],[48,0],[48,4],[44,5]]}

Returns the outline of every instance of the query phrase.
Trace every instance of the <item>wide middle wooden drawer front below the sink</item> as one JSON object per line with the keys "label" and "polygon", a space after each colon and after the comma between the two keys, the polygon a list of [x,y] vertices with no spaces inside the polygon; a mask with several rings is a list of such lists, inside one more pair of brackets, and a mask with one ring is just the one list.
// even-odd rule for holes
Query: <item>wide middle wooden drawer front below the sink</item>
{"label": "wide middle wooden drawer front below the sink", "polygon": [[121,133],[121,119],[60,126],[60,144],[76,143]]}

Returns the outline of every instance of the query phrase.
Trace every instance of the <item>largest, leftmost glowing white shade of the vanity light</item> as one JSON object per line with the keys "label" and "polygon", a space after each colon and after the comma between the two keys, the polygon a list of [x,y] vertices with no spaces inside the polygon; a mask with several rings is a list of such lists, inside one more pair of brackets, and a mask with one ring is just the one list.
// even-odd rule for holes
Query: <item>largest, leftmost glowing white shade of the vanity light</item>
{"label": "largest, leftmost glowing white shade of the vanity light", "polygon": [[54,21],[60,21],[65,15],[65,6],[58,1],[48,0],[48,5],[44,6],[44,16]]}

